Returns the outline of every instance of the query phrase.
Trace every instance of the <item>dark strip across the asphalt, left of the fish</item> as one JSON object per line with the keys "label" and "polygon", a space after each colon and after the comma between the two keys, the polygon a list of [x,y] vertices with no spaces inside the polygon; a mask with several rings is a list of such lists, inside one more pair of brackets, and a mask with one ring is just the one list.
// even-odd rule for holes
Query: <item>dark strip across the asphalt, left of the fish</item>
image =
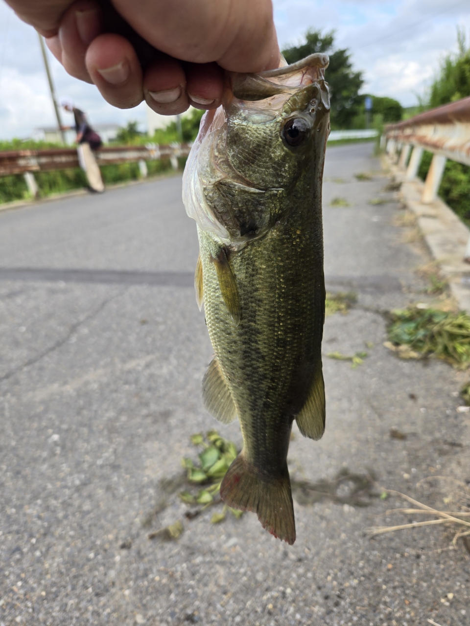
{"label": "dark strip across the asphalt, left of the fish", "polygon": [[194,274],[192,272],[129,272],[125,270],[63,270],[42,267],[12,267],[0,268],[0,280],[194,287]]}

